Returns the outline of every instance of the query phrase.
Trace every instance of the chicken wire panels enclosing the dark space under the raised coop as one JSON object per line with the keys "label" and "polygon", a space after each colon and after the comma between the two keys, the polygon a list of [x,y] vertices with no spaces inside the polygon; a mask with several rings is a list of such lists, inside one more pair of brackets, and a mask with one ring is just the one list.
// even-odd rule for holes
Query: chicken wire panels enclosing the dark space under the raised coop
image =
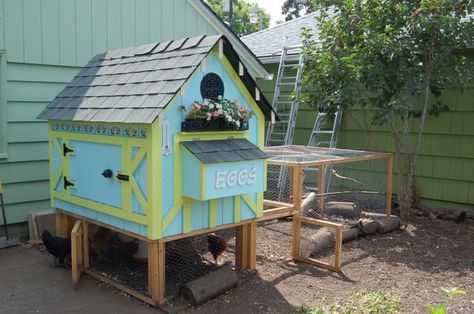
{"label": "chicken wire panels enclosing the dark space under the raised coop", "polygon": [[[165,295],[178,297],[181,288],[222,265],[235,264],[234,228],[216,231],[226,248],[215,263],[207,234],[165,243]],[[143,295],[148,289],[147,242],[89,225],[89,269]],[[212,249],[211,249],[212,250]]]}

